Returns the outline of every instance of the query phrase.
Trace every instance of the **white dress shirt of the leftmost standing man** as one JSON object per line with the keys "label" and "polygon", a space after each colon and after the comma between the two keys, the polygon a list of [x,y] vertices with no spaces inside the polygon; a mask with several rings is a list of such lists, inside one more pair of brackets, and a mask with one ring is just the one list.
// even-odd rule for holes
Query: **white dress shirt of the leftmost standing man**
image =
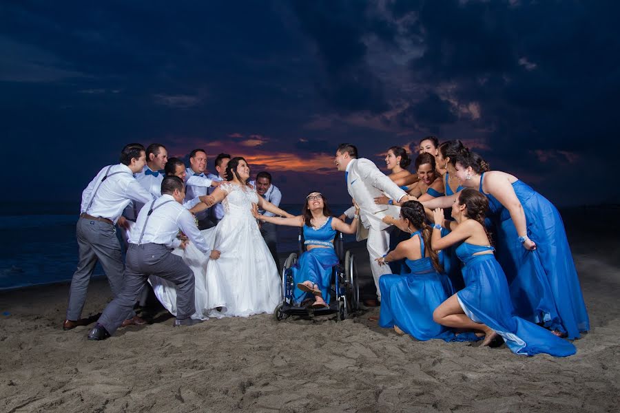
{"label": "white dress shirt of the leftmost standing man", "polygon": [[[112,165],[108,172],[109,176],[115,172],[121,173],[116,173],[116,175],[110,176],[101,182],[108,168],[110,166],[103,167],[82,192],[80,213],[107,218],[116,224],[116,221],[123,213],[123,209],[131,201],[145,204],[152,201],[154,197],[134,178],[134,174],[127,165]],[[96,191],[94,199],[92,204],[90,204],[90,208],[87,209],[94,191]]]}

